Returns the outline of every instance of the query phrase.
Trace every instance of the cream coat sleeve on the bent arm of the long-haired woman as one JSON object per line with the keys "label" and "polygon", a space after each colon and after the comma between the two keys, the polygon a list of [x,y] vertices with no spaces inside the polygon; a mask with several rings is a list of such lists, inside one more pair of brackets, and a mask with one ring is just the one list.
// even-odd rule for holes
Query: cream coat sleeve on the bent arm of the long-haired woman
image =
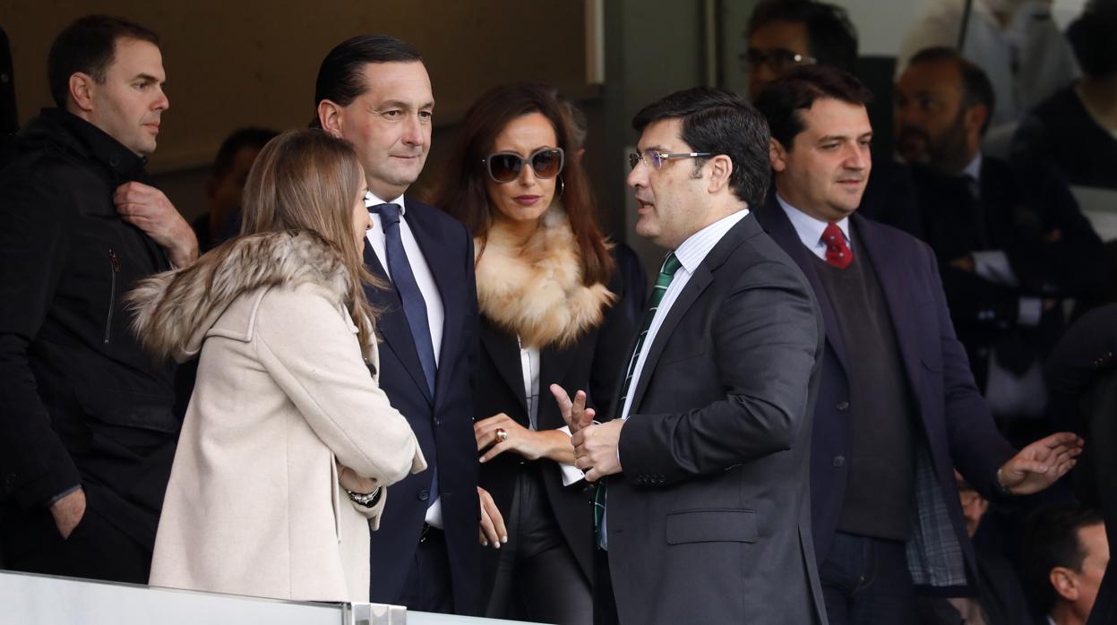
{"label": "cream coat sleeve on the bent arm of the long-haired woman", "polygon": [[369,374],[356,335],[321,287],[269,291],[254,343],[264,368],[342,464],[380,485],[427,468],[411,426]]}

